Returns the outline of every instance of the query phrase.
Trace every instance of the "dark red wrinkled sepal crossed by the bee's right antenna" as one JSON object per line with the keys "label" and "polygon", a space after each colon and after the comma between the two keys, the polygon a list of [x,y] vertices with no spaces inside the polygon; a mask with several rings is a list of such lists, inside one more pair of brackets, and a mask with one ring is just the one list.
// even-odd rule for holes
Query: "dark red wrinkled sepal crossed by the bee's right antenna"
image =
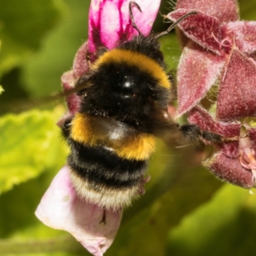
{"label": "dark red wrinkled sepal crossed by the bee's right antenna", "polygon": [[[166,17],[173,22],[180,19],[182,16],[191,12],[191,10],[179,9],[169,13]],[[221,55],[221,30],[218,19],[198,12],[191,15],[179,23],[178,27],[189,39],[196,44],[210,50],[218,55]]]}

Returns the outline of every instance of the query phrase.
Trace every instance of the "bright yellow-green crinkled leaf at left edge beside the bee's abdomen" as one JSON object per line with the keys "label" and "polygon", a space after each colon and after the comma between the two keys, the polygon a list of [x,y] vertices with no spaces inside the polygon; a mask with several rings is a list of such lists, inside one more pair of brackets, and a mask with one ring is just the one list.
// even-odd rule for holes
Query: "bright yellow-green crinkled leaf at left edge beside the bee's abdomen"
{"label": "bright yellow-green crinkled leaf at left edge beside the bee's abdomen", "polygon": [[52,164],[64,164],[65,150],[56,125],[61,113],[62,108],[52,113],[35,110],[0,119],[0,193],[40,175]]}

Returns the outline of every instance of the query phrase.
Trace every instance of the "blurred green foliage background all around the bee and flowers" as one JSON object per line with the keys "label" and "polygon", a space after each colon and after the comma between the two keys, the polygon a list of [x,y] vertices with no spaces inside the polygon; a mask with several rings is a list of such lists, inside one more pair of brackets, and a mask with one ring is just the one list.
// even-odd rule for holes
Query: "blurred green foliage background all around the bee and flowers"
{"label": "blurred green foliage background all around the bee and flowers", "polygon": [[[167,2],[161,13],[172,10]],[[68,154],[56,126],[65,106],[12,112],[61,90],[61,74],[86,40],[89,4],[0,0],[0,255],[88,255],[69,234],[45,227],[34,215]],[[256,20],[256,0],[240,4],[241,19]],[[159,15],[154,31],[166,26]],[[174,69],[180,56],[175,34],[161,42]],[[170,149],[159,141],[147,193],[125,211],[107,256],[256,251],[256,196],[221,183],[190,155],[189,149]]]}

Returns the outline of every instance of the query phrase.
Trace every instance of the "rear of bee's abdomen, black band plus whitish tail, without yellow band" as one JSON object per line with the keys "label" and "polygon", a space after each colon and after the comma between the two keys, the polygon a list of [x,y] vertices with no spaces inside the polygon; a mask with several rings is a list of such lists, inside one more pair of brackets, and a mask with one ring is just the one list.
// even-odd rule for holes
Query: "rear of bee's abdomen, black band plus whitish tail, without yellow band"
{"label": "rear of bee's abdomen, black band plus whitish tail, without yellow band", "polygon": [[103,147],[69,141],[68,166],[81,198],[104,209],[118,210],[140,195],[148,161],[127,160]]}

